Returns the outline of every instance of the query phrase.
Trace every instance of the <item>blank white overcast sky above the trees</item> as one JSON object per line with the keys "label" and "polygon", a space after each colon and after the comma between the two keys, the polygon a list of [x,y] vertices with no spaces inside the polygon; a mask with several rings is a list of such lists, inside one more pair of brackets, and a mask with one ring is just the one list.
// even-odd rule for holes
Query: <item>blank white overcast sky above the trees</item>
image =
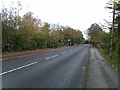
{"label": "blank white overcast sky above the trees", "polygon": [[[85,31],[93,23],[105,24],[110,21],[110,12],[105,9],[109,0],[19,0],[22,4],[22,12],[34,13],[42,21],[70,26],[82,31],[86,38]],[[0,1],[0,4],[2,1]],[[5,6],[17,0],[3,0]],[[0,5],[2,6],[2,5]]]}

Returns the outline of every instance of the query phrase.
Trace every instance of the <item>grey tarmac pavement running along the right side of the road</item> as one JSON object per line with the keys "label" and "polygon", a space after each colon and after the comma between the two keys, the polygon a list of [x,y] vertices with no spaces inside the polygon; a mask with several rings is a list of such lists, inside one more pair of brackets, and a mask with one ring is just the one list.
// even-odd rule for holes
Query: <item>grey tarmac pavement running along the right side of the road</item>
{"label": "grey tarmac pavement running along the right side of the road", "polygon": [[118,72],[97,49],[90,49],[86,88],[119,88]]}

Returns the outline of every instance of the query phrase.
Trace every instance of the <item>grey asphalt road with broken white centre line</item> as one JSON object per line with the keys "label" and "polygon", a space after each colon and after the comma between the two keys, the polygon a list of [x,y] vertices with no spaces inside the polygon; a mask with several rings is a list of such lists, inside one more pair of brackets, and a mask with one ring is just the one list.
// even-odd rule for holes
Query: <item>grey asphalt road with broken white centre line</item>
{"label": "grey asphalt road with broken white centre line", "polygon": [[2,61],[2,88],[81,88],[90,45]]}

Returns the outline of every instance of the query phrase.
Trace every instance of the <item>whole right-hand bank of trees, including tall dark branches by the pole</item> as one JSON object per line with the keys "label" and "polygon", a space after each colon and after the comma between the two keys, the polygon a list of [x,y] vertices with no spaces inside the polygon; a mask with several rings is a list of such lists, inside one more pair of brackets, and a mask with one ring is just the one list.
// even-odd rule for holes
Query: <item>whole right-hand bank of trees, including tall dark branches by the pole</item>
{"label": "whole right-hand bank of trees, including tall dark branches by the pole", "polygon": [[[107,8],[113,10],[113,3],[108,3]],[[114,25],[111,25],[109,28],[110,32],[106,33],[103,31],[103,27],[100,27],[98,24],[92,24],[90,28],[88,28],[88,36],[89,40],[92,44],[99,48],[101,53],[105,56],[106,59],[110,61],[110,63],[120,72],[120,1],[114,2],[115,9],[115,18]],[[109,23],[108,23],[109,24]],[[113,33],[112,33],[113,30]],[[112,43],[111,43],[112,40]],[[112,52],[110,52],[110,48],[112,47]],[[111,53],[112,58],[111,58]]]}

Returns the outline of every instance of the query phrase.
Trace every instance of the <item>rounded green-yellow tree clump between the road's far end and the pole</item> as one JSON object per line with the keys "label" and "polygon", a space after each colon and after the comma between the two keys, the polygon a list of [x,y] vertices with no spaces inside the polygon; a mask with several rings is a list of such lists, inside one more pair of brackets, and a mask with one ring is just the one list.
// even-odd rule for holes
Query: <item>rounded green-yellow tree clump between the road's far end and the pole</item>
{"label": "rounded green-yellow tree clump between the road's far end and the pole", "polygon": [[92,24],[87,31],[89,36],[88,39],[91,44],[98,49],[105,50],[105,53],[107,53],[109,56],[111,41],[110,32],[103,31],[102,27],[97,23]]}

